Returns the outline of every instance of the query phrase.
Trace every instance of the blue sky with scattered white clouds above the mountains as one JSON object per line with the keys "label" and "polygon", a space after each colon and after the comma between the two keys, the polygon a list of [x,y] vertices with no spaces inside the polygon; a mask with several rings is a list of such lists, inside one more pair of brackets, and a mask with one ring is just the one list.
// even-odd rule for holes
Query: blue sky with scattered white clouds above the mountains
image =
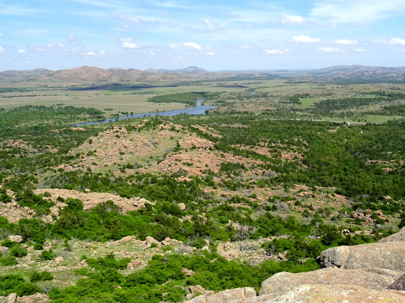
{"label": "blue sky with scattered white clouds above the mountains", "polygon": [[0,71],[405,65],[405,0],[0,0]]}

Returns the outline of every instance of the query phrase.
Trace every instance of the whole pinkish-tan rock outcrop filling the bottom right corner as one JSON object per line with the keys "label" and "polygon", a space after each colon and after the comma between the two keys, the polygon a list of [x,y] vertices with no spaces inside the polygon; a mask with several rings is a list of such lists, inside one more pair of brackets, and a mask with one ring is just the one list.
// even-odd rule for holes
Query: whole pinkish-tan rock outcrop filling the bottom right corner
{"label": "whole pinkish-tan rock outcrop filling the bottom right corner", "polygon": [[[400,236],[398,232],[395,239]],[[246,287],[186,303],[405,302],[405,242],[333,247],[322,251],[318,261],[323,267],[319,270],[273,275],[262,283],[258,296]],[[246,294],[242,289],[250,290]]]}

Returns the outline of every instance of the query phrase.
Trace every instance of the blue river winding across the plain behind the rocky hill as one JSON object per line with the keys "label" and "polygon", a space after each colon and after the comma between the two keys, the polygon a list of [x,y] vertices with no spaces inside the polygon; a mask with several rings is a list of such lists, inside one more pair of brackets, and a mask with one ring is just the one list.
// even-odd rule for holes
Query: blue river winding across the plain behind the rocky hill
{"label": "blue river winding across the plain behind the rocky hill", "polygon": [[152,117],[152,116],[176,116],[178,114],[188,114],[188,115],[205,115],[206,110],[211,110],[215,109],[216,106],[212,105],[201,105],[201,102],[204,101],[205,98],[198,99],[196,101],[197,106],[184,109],[184,110],[175,110],[175,111],[167,111],[167,112],[153,112],[153,113],[144,113],[144,114],[132,114],[132,115],[127,115],[127,116],[122,116],[122,117],[116,117],[116,118],[109,118],[103,121],[92,121],[92,122],[86,122],[86,123],[78,123],[75,124],[76,126],[83,126],[83,125],[92,125],[92,124],[102,124],[102,123],[108,123],[108,122],[115,122],[115,121],[120,121],[124,119],[129,119],[129,118],[144,118],[144,117]]}

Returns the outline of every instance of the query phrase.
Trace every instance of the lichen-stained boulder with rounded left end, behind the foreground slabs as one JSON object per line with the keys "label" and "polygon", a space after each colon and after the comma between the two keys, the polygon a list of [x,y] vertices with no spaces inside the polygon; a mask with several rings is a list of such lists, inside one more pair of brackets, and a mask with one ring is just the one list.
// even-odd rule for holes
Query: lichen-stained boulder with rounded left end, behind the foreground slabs
{"label": "lichen-stained boulder with rounded left end, behind the foreground slabs", "polygon": [[405,242],[332,247],[321,252],[319,264],[321,268],[385,268],[405,271]]}

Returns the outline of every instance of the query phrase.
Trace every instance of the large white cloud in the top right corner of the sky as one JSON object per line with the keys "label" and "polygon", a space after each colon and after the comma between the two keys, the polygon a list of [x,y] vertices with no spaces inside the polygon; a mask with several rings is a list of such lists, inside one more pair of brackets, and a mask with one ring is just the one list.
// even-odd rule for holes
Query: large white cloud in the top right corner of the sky
{"label": "large white cloud in the top right corner of the sky", "polygon": [[403,0],[318,0],[310,15],[334,23],[352,23],[372,22],[404,12]]}

